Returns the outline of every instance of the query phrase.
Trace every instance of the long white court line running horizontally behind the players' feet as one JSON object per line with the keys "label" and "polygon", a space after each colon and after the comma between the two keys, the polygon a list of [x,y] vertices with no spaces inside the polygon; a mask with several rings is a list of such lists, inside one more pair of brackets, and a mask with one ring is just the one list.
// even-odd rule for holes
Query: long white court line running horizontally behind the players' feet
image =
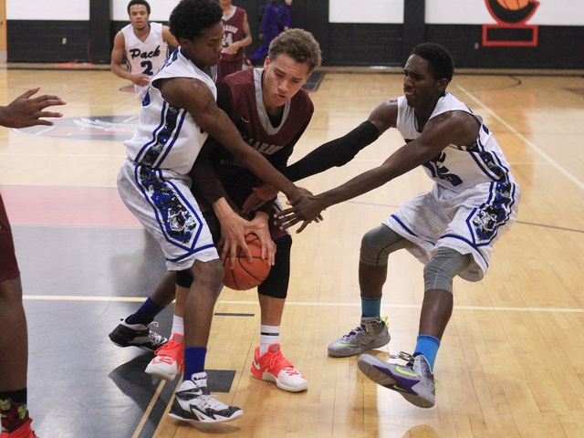
{"label": "long white court line running horizontally behind the players' feet", "polygon": [[[25,295],[23,299],[30,300],[47,300],[47,301],[119,301],[119,302],[142,302],[144,297],[81,297],[65,295]],[[220,299],[219,304],[235,305],[255,305],[259,306],[257,301],[233,301]],[[287,301],[287,306],[323,306],[337,308],[360,308],[360,303],[321,303],[316,301]],[[382,304],[382,308],[422,308],[418,304]],[[459,310],[495,310],[495,311],[515,311],[515,312],[564,312],[564,313],[584,313],[584,308],[506,308],[495,306],[454,306]]]}

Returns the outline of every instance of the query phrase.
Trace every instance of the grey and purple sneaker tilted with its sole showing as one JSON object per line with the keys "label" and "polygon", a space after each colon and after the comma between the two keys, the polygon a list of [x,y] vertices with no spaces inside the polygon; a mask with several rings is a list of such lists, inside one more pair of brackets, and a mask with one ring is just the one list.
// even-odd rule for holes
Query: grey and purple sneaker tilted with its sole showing
{"label": "grey and purple sneaker tilted with its sole showing", "polygon": [[422,354],[412,356],[403,351],[399,356],[390,358],[406,360],[407,363],[388,363],[370,354],[363,354],[357,360],[357,365],[371,381],[398,391],[405,400],[419,408],[432,408],[436,402],[436,384],[428,360]]}

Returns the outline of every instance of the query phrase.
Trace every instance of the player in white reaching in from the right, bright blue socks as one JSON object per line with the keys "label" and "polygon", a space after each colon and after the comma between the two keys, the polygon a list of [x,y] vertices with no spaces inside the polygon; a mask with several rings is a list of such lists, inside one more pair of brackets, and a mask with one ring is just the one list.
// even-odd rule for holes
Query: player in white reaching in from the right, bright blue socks
{"label": "player in white reaching in from the right, bright blue socks", "polygon": [[[303,206],[281,214],[283,224],[301,222],[296,214],[316,217],[335,203],[367,193],[422,165],[433,189],[421,193],[383,224],[364,235],[360,248],[361,324],[328,346],[328,354],[346,357],[390,341],[380,316],[381,290],[388,256],[406,248],[424,266],[424,298],[419,336],[412,355],[401,353],[405,366],[364,354],[358,360],[371,380],[398,391],[422,408],[435,402],[433,365],[453,311],[453,277],[480,280],[493,244],[516,219],[520,189],[495,138],[464,103],[446,93],[454,73],[450,53],[442,46],[414,47],[404,68],[404,96],[381,103],[369,123],[381,134],[397,128],[407,144],[381,166],[348,183],[320,193]],[[355,142],[355,152],[367,142]],[[323,159],[335,154],[321,147]],[[295,213],[296,212],[296,213]],[[298,229],[302,231],[308,222]]]}

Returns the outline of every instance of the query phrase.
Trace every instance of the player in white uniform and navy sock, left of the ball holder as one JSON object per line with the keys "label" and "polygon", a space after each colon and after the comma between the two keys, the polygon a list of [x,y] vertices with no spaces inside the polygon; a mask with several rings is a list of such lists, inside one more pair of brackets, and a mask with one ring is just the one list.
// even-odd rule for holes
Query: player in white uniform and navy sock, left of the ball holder
{"label": "player in white uniform and navy sock, left of the ball holder", "polygon": [[[206,347],[224,269],[191,193],[187,172],[212,135],[238,162],[287,194],[291,203],[308,199],[306,190],[290,183],[242,140],[217,107],[214,66],[223,48],[222,16],[215,0],[182,0],[172,10],[170,26],[180,47],[152,78],[138,127],[133,138],[125,141],[128,158],[118,176],[123,202],[161,245],[168,270],[187,269],[194,278],[184,307],[184,380],[170,413],[193,423],[229,421],[243,412],[217,401],[207,390]],[[226,245],[233,245],[232,253],[241,246],[251,259],[244,235],[258,231],[255,224],[235,214],[224,198],[214,207],[220,220],[224,214],[236,216],[229,221],[230,229],[222,230]],[[264,251],[273,259],[270,244],[267,236]],[[148,336],[148,328],[142,329]]]}

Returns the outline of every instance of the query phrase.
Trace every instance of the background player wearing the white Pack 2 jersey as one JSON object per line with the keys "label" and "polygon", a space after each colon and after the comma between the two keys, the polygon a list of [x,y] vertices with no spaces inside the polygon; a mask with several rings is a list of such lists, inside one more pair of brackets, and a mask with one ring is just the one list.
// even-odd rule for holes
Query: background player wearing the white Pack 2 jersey
{"label": "background player wearing the white Pack 2 jersey", "polygon": [[[144,99],[151,77],[169,55],[170,44],[179,43],[168,26],[151,23],[150,5],[146,0],[131,0],[128,4],[130,24],[116,34],[111,50],[111,71],[134,84],[137,99]],[[122,66],[124,55],[128,68]]]}

